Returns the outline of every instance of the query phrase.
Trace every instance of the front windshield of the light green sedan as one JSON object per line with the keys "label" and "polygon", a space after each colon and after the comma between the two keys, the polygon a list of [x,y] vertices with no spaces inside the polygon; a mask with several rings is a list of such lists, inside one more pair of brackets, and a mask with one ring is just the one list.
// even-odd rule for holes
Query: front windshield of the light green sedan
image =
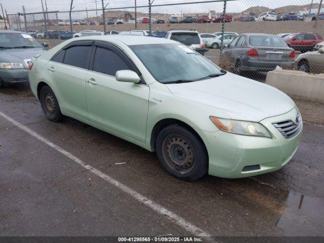
{"label": "front windshield of the light green sedan", "polygon": [[224,72],[197,52],[181,44],[130,46],[159,83],[195,81]]}

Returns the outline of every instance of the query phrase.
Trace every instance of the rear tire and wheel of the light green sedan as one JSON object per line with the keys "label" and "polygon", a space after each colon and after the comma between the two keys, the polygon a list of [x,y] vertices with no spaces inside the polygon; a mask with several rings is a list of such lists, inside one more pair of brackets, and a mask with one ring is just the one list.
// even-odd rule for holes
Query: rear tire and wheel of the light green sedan
{"label": "rear tire and wheel of the light green sedan", "polygon": [[55,122],[63,120],[59,103],[50,87],[44,86],[41,89],[39,92],[39,101],[41,101],[43,112],[49,120]]}

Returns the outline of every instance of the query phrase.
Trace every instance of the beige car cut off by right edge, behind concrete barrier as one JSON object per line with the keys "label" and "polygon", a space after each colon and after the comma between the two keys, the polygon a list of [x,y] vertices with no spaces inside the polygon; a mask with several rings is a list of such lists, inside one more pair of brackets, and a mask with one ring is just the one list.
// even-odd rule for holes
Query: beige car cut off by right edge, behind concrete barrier
{"label": "beige car cut off by right edge, behind concrete barrier", "polygon": [[300,54],[295,60],[294,67],[304,72],[324,73],[324,47],[315,52]]}

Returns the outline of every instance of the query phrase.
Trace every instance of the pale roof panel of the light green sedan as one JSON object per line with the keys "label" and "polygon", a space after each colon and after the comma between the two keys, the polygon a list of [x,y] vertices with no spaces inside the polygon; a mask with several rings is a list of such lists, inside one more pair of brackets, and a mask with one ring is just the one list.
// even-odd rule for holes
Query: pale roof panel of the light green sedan
{"label": "pale roof panel of the light green sedan", "polygon": [[[123,43],[128,46],[132,45],[149,45],[149,44],[174,44],[178,43],[172,41],[171,39],[166,38],[152,38],[147,36],[139,36],[139,35],[92,35],[92,36],[85,36],[85,37],[78,37],[77,41],[114,41]],[[71,42],[75,41],[71,39]],[[178,43],[179,44],[179,43]]]}

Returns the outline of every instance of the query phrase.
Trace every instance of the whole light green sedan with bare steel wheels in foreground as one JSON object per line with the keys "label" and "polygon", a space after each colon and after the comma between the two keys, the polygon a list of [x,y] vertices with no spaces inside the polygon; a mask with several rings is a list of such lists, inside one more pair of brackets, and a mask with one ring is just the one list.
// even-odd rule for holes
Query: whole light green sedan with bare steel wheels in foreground
{"label": "whole light green sedan with bare steel wheels in foreground", "polygon": [[276,171],[292,158],[302,133],[286,94],[169,39],[70,39],[33,58],[29,68],[48,119],[73,117],[156,151],[160,164],[184,180]]}

